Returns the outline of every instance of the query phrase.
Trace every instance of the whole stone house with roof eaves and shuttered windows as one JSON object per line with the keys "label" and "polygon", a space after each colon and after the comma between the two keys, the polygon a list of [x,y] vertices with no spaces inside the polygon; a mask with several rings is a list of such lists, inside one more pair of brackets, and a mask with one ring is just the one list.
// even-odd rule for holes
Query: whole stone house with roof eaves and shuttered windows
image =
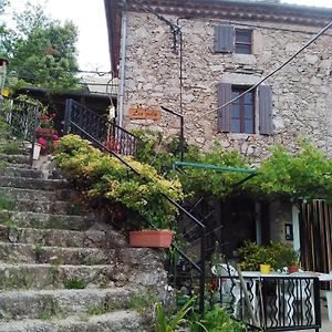
{"label": "whole stone house with roof eaves and shuttered windows", "polygon": [[[204,149],[217,141],[259,163],[271,145],[294,149],[305,137],[332,156],[332,29],[256,86],[332,20],[332,9],[278,0],[105,0],[105,11],[122,126],[177,133],[178,120],[167,113],[158,121],[129,116],[135,107],[166,106],[184,115],[185,137]],[[224,207],[230,234],[239,229],[238,204]],[[242,218],[243,237],[293,239],[300,248],[299,211],[290,203],[252,203]]]}

